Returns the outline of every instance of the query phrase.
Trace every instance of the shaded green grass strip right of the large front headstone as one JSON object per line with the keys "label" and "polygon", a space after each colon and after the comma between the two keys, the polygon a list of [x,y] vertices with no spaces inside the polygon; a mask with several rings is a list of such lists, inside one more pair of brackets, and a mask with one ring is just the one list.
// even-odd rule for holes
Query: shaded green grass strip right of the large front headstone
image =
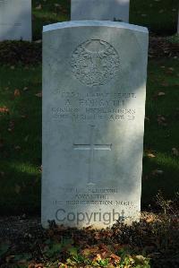
{"label": "shaded green grass strip right of the large front headstone", "polygon": [[[166,198],[179,191],[179,65],[175,59],[149,62],[144,136],[142,202],[149,203],[160,189]],[[165,95],[158,96],[158,92]],[[158,124],[158,115],[166,121]],[[155,158],[149,158],[153,152]],[[154,170],[161,170],[156,172]]]}

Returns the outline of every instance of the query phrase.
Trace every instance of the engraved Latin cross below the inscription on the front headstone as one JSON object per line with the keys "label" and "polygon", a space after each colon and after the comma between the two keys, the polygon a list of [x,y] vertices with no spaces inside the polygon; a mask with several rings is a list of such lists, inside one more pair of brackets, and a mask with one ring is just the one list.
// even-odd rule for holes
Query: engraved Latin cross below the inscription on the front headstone
{"label": "engraved Latin cross below the inscription on the front headstone", "polygon": [[97,144],[94,142],[94,129],[95,125],[90,125],[90,143],[88,144],[77,144],[73,143],[73,149],[75,151],[90,151],[90,165],[89,165],[89,178],[88,184],[94,185],[94,162],[95,162],[95,151],[111,151],[112,144]]}

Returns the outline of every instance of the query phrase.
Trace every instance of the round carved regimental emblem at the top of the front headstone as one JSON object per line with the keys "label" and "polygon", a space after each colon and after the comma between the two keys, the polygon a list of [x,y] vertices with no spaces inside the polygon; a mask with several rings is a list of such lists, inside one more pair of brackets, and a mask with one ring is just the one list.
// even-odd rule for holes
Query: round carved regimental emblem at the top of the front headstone
{"label": "round carved regimental emblem at the top of the front headstone", "polygon": [[91,39],[72,53],[72,73],[89,86],[104,85],[119,71],[119,56],[109,43]]}

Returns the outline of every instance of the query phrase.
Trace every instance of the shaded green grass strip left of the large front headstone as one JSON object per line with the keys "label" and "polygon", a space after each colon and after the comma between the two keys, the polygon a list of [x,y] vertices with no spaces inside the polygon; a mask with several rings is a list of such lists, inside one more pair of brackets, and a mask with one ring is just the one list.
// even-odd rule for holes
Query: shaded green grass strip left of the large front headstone
{"label": "shaded green grass strip left of the large front headstone", "polygon": [[4,66],[0,73],[0,107],[9,108],[0,113],[1,210],[31,212],[40,200],[41,67]]}

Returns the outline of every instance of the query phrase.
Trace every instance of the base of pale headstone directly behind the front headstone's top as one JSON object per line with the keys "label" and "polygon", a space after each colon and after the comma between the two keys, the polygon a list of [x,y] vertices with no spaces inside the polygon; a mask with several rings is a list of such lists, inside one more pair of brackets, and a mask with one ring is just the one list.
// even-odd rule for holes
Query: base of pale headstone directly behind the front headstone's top
{"label": "base of pale headstone directly behind the front headstone's top", "polygon": [[72,0],[71,20],[129,22],[130,0]]}

